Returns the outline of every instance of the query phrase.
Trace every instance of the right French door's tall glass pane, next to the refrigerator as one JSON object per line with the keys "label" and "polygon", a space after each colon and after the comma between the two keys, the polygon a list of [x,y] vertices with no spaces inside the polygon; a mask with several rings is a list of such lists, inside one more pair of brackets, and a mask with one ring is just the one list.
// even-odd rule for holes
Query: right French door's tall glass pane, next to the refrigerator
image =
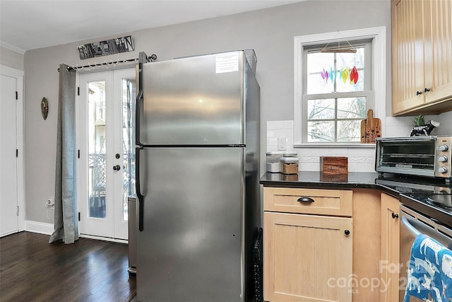
{"label": "right French door's tall glass pane, next to the refrigerator", "polygon": [[135,194],[135,79],[122,79],[123,214],[128,220],[129,195]]}

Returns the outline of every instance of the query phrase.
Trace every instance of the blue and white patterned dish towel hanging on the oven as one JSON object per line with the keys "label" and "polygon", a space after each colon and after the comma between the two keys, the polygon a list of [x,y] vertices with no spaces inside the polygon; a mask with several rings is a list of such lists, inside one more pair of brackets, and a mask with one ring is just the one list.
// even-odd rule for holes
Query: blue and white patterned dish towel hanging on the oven
{"label": "blue and white patterned dish towel hanging on the oven", "polygon": [[452,252],[427,235],[416,237],[411,248],[404,302],[452,301]]}

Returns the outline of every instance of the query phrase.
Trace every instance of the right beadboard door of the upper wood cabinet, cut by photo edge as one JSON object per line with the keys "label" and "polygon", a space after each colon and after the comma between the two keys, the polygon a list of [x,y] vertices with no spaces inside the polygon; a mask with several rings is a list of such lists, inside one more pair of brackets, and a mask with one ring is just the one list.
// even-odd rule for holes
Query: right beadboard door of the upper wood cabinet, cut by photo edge
{"label": "right beadboard door of the upper wood cabinet, cut by photo edge", "polygon": [[[452,95],[452,0],[424,0],[425,103]],[[431,41],[431,42],[429,42]]]}

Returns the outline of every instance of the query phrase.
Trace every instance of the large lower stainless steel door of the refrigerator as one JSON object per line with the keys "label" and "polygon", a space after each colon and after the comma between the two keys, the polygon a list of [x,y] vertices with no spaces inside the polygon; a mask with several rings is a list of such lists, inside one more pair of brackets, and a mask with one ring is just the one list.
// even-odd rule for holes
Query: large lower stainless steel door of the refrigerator
{"label": "large lower stainless steel door of the refrigerator", "polygon": [[139,157],[137,300],[244,301],[244,149],[161,147]]}

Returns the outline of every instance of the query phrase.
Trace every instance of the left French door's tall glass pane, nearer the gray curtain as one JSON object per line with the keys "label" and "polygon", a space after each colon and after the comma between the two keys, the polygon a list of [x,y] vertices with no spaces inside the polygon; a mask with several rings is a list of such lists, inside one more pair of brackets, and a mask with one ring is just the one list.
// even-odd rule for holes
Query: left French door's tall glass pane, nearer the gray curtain
{"label": "left French door's tall glass pane, nearer the gray curtain", "polygon": [[105,218],[105,81],[88,83],[89,216]]}

